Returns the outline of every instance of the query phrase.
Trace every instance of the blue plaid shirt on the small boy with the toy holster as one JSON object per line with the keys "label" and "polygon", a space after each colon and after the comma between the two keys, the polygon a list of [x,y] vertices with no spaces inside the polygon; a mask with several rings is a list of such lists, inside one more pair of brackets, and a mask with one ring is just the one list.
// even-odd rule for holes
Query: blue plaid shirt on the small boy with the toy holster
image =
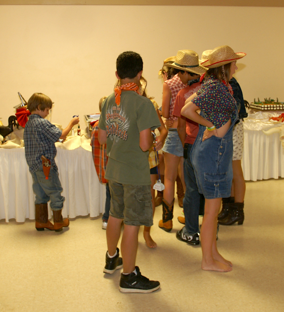
{"label": "blue plaid shirt on the small boy with the toy holster", "polygon": [[47,119],[37,114],[32,114],[25,125],[24,144],[25,156],[30,172],[36,172],[41,166],[41,156],[51,161],[51,165],[57,168],[55,156],[57,153],[55,142],[61,137],[62,131]]}

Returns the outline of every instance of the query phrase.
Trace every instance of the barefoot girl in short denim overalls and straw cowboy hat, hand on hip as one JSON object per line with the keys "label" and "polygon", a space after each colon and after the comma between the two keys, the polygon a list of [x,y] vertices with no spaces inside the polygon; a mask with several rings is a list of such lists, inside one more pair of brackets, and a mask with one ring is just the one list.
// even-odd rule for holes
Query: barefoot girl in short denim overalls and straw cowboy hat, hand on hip
{"label": "barefoot girl in short denim overalls and straw cowboy hat, hand on hip", "polygon": [[231,192],[232,131],[238,120],[236,101],[228,81],[237,69],[236,60],[245,55],[234,53],[227,45],[212,50],[208,60],[202,63],[208,68],[203,86],[187,99],[181,111],[183,116],[199,123],[190,157],[199,193],[205,197],[200,233],[203,270],[232,270],[232,263],[217,250],[217,216],[222,197],[229,197]]}

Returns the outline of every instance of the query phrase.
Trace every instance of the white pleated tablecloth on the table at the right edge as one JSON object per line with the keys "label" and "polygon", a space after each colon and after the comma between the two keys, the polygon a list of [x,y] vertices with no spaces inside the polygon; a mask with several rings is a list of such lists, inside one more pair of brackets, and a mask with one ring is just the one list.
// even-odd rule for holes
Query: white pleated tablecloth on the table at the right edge
{"label": "white pleated tablecloth on the table at the right edge", "polygon": [[270,117],[279,116],[281,113],[283,112],[252,111],[248,118],[244,119],[242,167],[245,180],[284,177],[284,148],[280,141],[280,133],[267,136],[263,132],[283,125],[269,120]]}

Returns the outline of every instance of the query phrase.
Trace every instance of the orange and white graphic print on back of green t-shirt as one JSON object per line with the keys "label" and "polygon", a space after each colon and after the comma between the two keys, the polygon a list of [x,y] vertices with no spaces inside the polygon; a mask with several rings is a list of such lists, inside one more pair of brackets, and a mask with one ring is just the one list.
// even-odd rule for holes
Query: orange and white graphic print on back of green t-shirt
{"label": "orange and white graphic print on back of green t-shirt", "polygon": [[123,107],[111,106],[106,114],[107,137],[115,142],[119,139],[127,140],[127,130],[130,126],[129,118],[126,116]]}

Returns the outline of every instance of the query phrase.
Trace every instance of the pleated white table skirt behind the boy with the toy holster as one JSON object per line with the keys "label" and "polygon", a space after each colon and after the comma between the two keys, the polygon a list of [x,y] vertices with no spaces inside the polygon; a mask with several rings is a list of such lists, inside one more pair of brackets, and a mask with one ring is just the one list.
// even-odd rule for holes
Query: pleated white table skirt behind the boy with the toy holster
{"label": "pleated white table skirt behind the boy with the toy holster", "polygon": [[[92,153],[81,146],[73,150],[57,147],[56,163],[65,202],[63,217],[95,217],[104,212],[105,185],[95,172]],[[0,148],[0,219],[35,219],[33,180],[24,148]],[[49,208],[49,217],[51,211]]]}

